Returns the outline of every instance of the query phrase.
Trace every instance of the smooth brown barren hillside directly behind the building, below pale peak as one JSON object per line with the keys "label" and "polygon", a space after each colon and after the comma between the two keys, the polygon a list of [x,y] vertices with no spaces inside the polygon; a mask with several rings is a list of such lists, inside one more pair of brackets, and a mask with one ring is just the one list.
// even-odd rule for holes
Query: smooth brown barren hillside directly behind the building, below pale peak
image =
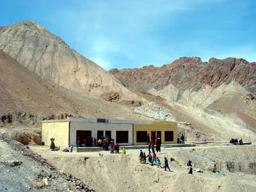
{"label": "smooth brown barren hillside directly behind the building, below pale peak", "polygon": [[0,51],[0,97],[0,118],[3,122],[12,121],[14,116],[29,118],[34,115],[141,118],[121,104],[92,99],[49,83],[3,51]]}

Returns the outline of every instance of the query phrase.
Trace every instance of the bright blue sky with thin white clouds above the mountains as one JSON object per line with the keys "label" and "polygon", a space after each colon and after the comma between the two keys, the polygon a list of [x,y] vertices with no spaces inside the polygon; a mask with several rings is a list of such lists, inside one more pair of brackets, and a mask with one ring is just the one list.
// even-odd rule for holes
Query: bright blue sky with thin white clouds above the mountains
{"label": "bright blue sky with thin white clouds above the mountains", "polygon": [[106,70],[181,56],[256,61],[255,10],[255,0],[1,0],[0,26],[34,20]]}

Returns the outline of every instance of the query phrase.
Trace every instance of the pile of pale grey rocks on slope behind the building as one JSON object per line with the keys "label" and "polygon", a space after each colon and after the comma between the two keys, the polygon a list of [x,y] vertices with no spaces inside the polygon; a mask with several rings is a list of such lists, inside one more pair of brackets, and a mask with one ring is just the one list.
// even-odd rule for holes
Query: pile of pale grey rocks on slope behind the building
{"label": "pile of pale grey rocks on slope behind the building", "polygon": [[148,102],[147,104],[134,109],[134,113],[145,115],[156,120],[165,120],[168,122],[177,122],[175,117],[166,109],[161,108],[156,102]]}

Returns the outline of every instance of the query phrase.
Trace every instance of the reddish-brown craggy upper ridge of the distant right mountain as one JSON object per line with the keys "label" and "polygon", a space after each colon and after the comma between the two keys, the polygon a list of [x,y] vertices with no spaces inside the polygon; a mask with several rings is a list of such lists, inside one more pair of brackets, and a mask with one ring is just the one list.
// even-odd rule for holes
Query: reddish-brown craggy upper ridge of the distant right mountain
{"label": "reddish-brown craggy upper ridge of the distant right mountain", "polygon": [[168,84],[182,91],[189,88],[198,90],[206,85],[218,87],[232,81],[246,87],[256,86],[256,63],[236,58],[211,58],[208,62],[202,62],[200,58],[183,57],[162,67],[150,65],[112,69],[109,72],[120,79],[124,86],[138,92],[147,92],[151,88],[161,90]]}

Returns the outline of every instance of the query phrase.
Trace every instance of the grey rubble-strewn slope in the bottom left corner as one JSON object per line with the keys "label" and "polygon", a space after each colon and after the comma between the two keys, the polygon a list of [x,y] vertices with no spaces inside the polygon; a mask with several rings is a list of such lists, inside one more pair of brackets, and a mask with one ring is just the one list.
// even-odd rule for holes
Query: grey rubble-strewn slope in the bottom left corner
{"label": "grey rubble-strewn slope in the bottom left corner", "polygon": [[0,191],[93,191],[57,172],[28,147],[0,133]]}

